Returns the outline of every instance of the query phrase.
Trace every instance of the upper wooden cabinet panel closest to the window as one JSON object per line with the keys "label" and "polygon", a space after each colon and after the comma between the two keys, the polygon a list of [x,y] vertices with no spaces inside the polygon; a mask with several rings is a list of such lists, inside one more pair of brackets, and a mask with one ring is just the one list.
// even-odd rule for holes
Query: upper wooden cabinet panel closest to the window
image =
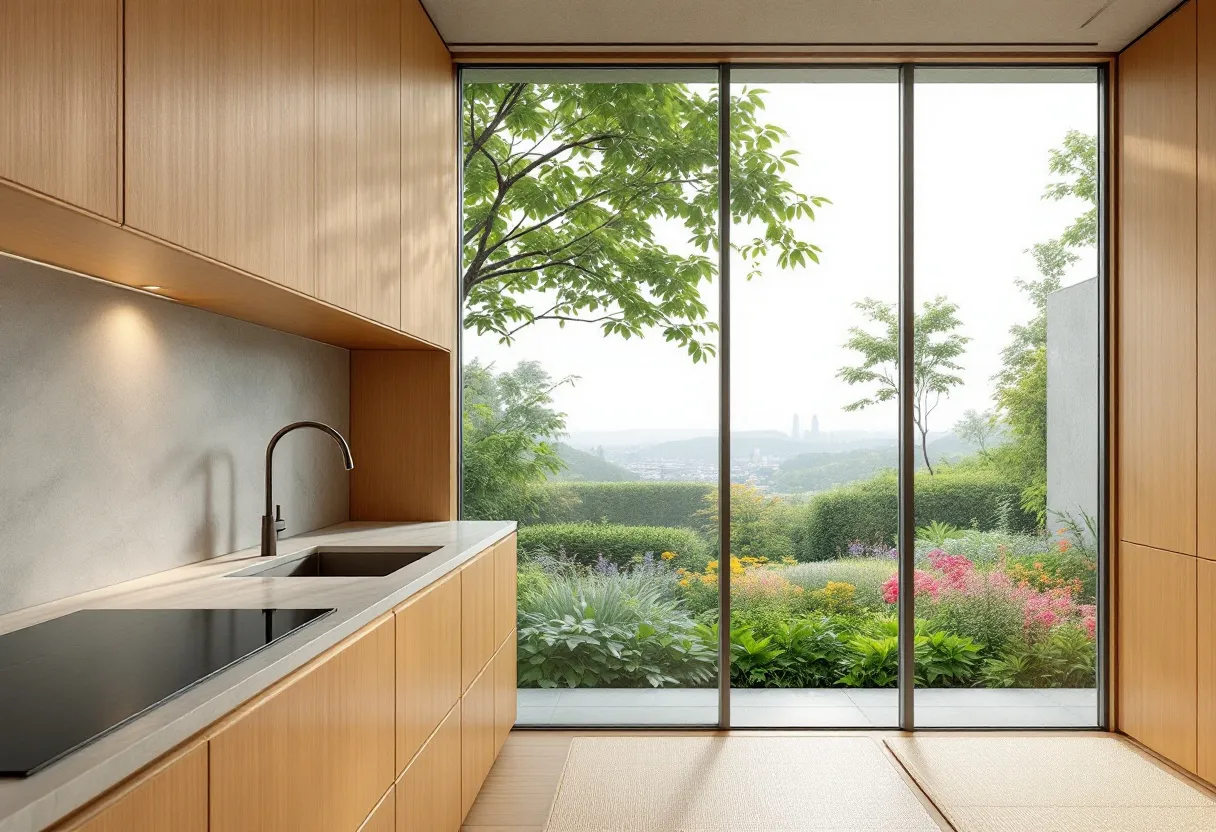
{"label": "upper wooden cabinet panel closest to the window", "polygon": [[402,12],[401,328],[456,344],[456,77],[418,0]]}

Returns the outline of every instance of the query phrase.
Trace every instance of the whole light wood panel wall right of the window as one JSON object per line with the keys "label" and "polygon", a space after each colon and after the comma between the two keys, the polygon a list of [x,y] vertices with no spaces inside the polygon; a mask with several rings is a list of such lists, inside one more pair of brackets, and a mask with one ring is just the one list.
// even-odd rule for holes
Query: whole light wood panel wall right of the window
{"label": "whole light wood panel wall right of the window", "polygon": [[1216,0],[1118,90],[1116,726],[1216,782]]}

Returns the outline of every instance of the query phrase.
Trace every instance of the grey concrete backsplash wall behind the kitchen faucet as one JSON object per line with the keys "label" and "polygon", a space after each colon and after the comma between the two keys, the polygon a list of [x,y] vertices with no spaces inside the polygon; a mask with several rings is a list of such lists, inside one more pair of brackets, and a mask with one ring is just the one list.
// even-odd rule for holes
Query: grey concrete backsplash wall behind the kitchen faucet
{"label": "grey concrete backsplash wall behind the kitchen faucet", "polygon": [[[0,257],[0,613],[257,545],[266,442],[348,431],[349,358]],[[347,519],[331,439],[275,468],[288,533]]]}

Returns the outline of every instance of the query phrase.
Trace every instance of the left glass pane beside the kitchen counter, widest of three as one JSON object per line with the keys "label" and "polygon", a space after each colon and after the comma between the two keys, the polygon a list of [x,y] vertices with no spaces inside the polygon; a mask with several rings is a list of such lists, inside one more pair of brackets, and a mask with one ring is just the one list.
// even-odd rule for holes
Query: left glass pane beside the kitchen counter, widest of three
{"label": "left glass pane beside the kitchen counter, widest of three", "polygon": [[717,723],[716,71],[463,74],[469,519],[522,725]]}

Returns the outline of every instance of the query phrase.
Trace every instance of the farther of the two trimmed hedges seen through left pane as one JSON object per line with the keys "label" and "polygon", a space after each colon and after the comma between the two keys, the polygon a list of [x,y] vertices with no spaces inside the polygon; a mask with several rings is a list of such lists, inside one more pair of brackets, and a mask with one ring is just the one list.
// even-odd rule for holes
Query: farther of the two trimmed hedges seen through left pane
{"label": "farther of the two trimmed hedges seen through left pane", "polygon": [[551,483],[536,523],[699,527],[713,483]]}

